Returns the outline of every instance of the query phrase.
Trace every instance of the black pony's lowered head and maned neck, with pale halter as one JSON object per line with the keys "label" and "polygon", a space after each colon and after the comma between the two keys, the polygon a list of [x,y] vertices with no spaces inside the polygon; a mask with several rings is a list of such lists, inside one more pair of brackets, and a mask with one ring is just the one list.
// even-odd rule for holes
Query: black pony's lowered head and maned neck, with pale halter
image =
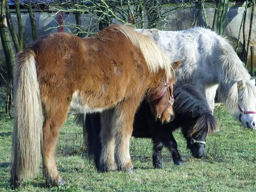
{"label": "black pony's lowered head and maned neck, with pale halter", "polygon": [[195,158],[203,157],[205,153],[206,138],[209,133],[215,133],[218,124],[212,115],[204,95],[191,86],[174,85],[174,110],[177,115],[174,123],[181,126],[187,147]]}

